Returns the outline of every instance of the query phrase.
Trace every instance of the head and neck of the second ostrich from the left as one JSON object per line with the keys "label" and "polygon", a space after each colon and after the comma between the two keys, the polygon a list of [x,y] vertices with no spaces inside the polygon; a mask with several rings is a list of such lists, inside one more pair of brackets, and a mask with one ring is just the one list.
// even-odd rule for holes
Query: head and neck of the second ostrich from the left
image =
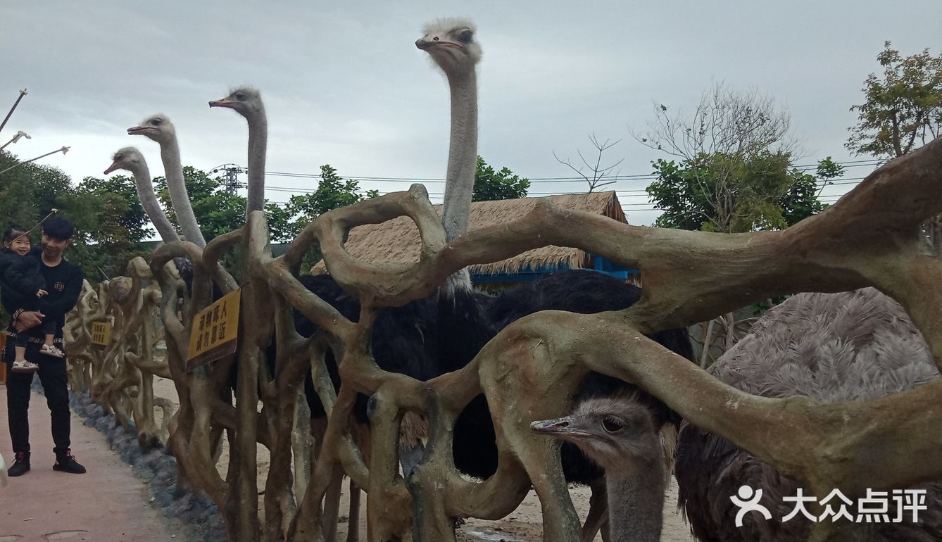
{"label": "head and neck of the second ostrich from the left", "polygon": [[147,136],[160,145],[160,159],[164,163],[164,175],[167,177],[167,191],[171,195],[171,204],[176,213],[177,222],[188,241],[203,248],[206,241],[196,222],[193,207],[189,205],[187,183],[183,178],[183,165],[180,162],[180,145],[177,144],[176,130],[171,120],[164,115],[148,117],[143,123],[127,129],[129,135]]}

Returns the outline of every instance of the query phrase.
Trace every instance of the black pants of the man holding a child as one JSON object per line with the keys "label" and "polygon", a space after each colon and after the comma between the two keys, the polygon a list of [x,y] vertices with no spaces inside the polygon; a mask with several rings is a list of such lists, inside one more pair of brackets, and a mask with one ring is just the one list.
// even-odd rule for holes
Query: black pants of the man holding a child
{"label": "black pants of the man holding a child", "polygon": [[[3,359],[7,362],[7,414],[9,419],[9,438],[13,442],[13,452],[29,452],[29,388],[33,374],[12,372],[13,346],[4,349]],[[52,415],[53,442],[55,452],[65,452],[71,446],[68,376],[64,358],[42,355],[39,345],[30,343],[26,350],[26,359],[38,362],[40,382],[46,394],[46,404]]]}

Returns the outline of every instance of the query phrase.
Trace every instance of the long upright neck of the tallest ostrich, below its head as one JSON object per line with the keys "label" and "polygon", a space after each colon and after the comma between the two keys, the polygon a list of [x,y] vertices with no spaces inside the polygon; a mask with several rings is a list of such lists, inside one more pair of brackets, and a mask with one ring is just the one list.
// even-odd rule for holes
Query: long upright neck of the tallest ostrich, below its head
{"label": "long upright neck of the tallest ostrich, below its head", "polygon": [[478,166],[478,80],[472,70],[448,75],[451,90],[451,144],[442,223],[450,242],[468,229],[471,195]]}

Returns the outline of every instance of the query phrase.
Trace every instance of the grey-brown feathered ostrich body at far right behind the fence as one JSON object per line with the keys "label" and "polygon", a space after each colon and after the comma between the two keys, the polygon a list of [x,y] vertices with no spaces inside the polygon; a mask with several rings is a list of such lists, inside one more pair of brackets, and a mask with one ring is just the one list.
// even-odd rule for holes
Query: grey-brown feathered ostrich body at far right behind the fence
{"label": "grey-brown feathered ostrich body at far right behind the fence", "polygon": [[[918,329],[891,298],[874,288],[836,294],[792,296],[755,322],[750,334],[723,354],[709,371],[742,391],[771,398],[794,395],[820,402],[867,401],[911,389],[938,376]],[[805,540],[810,520],[782,496],[799,484],[780,475],[721,436],[685,424],[677,443],[679,504],[700,540]],[[762,489],[772,518],[750,513],[736,528],[739,507],[729,497],[741,485]],[[929,541],[942,539],[942,485],[927,489],[928,510],[919,523],[865,523],[858,539]],[[817,496],[823,499],[823,495]],[[890,517],[895,504],[890,503]]]}

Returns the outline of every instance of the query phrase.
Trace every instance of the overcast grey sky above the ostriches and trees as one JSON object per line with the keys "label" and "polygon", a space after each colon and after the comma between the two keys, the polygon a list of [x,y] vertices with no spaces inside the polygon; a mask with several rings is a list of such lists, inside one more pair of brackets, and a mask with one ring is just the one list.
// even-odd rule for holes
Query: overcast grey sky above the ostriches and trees
{"label": "overcast grey sky above the ostriches and trees", "polygon": [[[262,90],[269,172],[441,179],[448,144],[444,77],[414,46],[436,17],[478,25],[479,154],[531,178],[571,177],[553,157],[577,159],[588,140],[622,142],[623,175],[647,174],[657,152],[630,137],[652,102],[690,111],[711,81],[755,87],[790,110],[792,136],[814,163],[860,159],[844,149],[867,74],[885,40],[903,55],[937,54],[942,2],[175,2],[7,1],[0,5],[0,114],[28,89],[0,140],[79,181],[102,176],[110,156],[137,146],[163,174],[156,143],[125,134],[154,113],[177,127],[184,164],[246,165],[247,128],[209,100],[230,87]],[[858,178],[872,167],[856,167]],[[243,176],[244,180],[244,176]],[[267,198],[285,202],[315,179],[268,175]],[[628,221],[657,213],[646,180],[616,186]],[[361,182],[406,189],[409,182]],[[274,189],[281,187],[283,189]],[[427,183],[432,201],[441,183]],[[837,194],[853,186],[829,187]],[[534,181],[531,195],[585,191]],[[833,199],[833,198],[832,198]]]}

